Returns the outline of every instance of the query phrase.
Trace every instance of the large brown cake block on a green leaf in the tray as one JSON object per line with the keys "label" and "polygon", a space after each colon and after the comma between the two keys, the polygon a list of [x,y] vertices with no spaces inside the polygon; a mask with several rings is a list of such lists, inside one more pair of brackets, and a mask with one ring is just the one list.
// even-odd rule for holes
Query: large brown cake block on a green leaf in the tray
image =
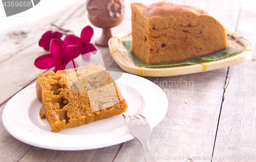
{"label": "large brown cake block on a green leaf in the tray", "polygon": [[227,48],[223,25],[208,12],[159,2],[132,7],[132,51],[146,64],[210,55]]}

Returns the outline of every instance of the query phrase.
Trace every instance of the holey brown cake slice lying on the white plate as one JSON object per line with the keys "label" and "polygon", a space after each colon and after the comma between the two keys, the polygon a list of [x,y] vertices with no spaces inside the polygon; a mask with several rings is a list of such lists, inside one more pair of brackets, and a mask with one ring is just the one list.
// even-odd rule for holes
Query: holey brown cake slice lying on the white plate
{"label": "holey brown cake slice lying on the white plate", "polygon": [[127,104],[113,78],[102,66],[38,75],[39,112],[57,132],[125,113]]}

